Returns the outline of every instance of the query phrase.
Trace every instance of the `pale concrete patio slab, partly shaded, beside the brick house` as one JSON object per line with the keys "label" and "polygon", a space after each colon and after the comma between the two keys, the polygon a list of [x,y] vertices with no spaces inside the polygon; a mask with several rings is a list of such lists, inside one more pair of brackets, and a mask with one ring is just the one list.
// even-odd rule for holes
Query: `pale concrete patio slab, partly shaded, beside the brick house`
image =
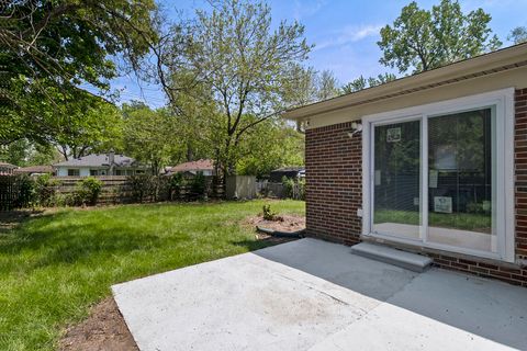
{"label": "pale concrete patio slab, partly shaded, beside the brick house", "polygon": [[527,288],[314,239],[113,293],[141,350],[527,350]]}

